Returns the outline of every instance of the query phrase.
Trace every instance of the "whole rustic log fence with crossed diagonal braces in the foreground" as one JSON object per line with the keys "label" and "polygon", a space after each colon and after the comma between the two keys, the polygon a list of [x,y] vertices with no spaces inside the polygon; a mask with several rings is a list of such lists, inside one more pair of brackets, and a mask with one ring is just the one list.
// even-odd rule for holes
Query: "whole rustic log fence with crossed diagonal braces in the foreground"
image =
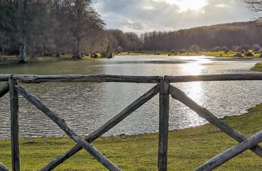
{"label": "whole rustic log fence with crossed diagonal braces in the foreground", "polygon": [[[178,88],[171,86],[170,83],[189,82],[189,81],[235,81],[235,80],[262,80],[262,74],[243,74],[243,75],[198,75],[198,76],[165,76],[165,77],[145,77],[145,76],[117,76],[117,75],[0,75],[0,81],[8,81],[0,88],[0,98],[10,92],[10,110],[11,110],[11,150],[12,150],[12,170],[20,170],[20,154],[19,154],[19,96],[18,93],[24,96],[30,103],[38,107],[46,114],[53,122],[56,122],[71,139],[77,144],[53,159],[47,166],[41,170],[52,170],[60,163],[69,159],[79,150],[84,148],[97,161],[102,163],[108,170],[121,170],[114,163],[109,161],[104,155],[99,153],[91,142],[106,133],[112,127],[115,127],[121,120],[129,116],[132,111],[135,111],[145,102],[149,101],[159,92],[159,136],[158,136],[158,170],[167,170],[167,142],[168,142],[168,120],[169,120],[169,94],[172,98],[187,105],[196,114],[209,121],[215,127],[219,128],[224,133],[228,134],[239,144],[233,146],[223,153],[213,157],[206,163],[203,163],[196,170],[213,170],[222,165],[233,157],[250,149],[260,157],[262,157],[262,148],[258,144],[262,142],[262,130],[252,137],[246,137],[239,131],[233,129],[228,124],[211,114],[204,107],[201,107],[189,98],[184,92]],[[88,135],[85,139],[75,133],[63,118],[60,118],[56,113],[51,111],[38,98],[32,95],[21,86],[20,83],[47,83],[47,82],[129,82],[129,83],[157,83],[152,89],[147,91],[143,96],[138,98],[134,103],[128,105],[117,116],[106,122],[102,127]],[[8,170],[0,163],[0,170]]]}

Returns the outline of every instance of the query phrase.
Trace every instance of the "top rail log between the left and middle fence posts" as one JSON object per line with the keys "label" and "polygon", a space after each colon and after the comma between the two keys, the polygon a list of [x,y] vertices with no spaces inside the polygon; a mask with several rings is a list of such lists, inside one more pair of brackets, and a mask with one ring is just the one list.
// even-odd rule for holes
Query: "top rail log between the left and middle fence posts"
{"label": "top rail log between the left and middle fence posts", "polygon": [[125,76],[125,75],[14,75],[21,83],[46,82],[129,82],[159,83],[163,77],[158,76]]}

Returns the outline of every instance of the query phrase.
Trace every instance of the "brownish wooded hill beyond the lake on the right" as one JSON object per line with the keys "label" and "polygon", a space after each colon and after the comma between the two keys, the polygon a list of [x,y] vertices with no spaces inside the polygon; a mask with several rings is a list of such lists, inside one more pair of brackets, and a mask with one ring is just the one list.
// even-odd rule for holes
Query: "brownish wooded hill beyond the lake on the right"
{"label": "brownish wooded hill beyond the lake on the right", "polygon": [[226,23],[169,32],[152,31],[142,34],[141,38],[143,50],[147,51],[189,49],[192,44],[198,44],[200,49],[209,51],[215,47],[231,49],[233,46],[252,49],[253,44],[262,44],[262,21]]}

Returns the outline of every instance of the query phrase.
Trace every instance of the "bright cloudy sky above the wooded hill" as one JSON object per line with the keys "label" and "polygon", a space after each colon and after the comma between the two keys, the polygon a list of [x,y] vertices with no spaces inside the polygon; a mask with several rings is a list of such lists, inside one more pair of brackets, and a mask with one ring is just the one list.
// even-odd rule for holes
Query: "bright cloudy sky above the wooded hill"
{"label": "bright cloudy sky above the wooded hill", "polygon": [[204,25],[250,21],[240,0],[93,0],[106,28],[173,31]]}

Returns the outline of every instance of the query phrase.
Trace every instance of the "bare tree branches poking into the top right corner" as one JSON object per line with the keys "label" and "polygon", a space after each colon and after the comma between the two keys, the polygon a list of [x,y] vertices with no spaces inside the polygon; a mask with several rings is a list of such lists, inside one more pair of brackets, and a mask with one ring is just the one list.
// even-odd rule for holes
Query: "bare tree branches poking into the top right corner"
{"label": "bare tree branches poking into the top right corner", "polygon": [[246,7],[254,14],[254,19],[262,19],[262,1],[261,0],[241,0],[246,3]]}

